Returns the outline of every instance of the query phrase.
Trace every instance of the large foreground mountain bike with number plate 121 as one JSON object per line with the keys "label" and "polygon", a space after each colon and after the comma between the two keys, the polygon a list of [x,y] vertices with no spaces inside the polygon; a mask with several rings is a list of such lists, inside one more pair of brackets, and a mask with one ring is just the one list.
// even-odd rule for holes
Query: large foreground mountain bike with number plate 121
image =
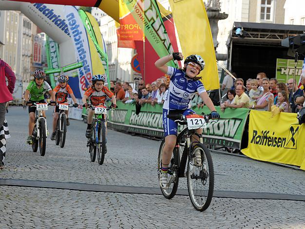
{"label": "large foreground mountain bike with number plate 121", "polygon": [[[175,122],[187,125],[177,136],[172,159],[168,168],[168,187],[162,189],[165,198],[171,199],[177,191],[179,178],[187,177],[188,191],[191,203],[196,210],[204,211],[210,206],[214,191],[214,168],[209,149],[203,144],[202,134],[196,130],[203,128],[209,122],[210,115],[181,115],[167,116]],[[197,137],[199,141],[193,141]],[[160,179],[162,166],[162,152],[165,139],[161,142],[158,155],[158,178]],[[195,165],[196,152],[200,152],[201,165]],[[198,154],[198,153],[197,153]],[[185,172],[187,166],[187,172]]]}

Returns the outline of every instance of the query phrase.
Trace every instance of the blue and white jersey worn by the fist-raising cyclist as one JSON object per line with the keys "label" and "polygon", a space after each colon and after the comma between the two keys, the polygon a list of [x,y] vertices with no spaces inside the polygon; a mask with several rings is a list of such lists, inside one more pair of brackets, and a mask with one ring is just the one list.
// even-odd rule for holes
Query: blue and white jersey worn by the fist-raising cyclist
{"label": "blue and white jersey worn by the fist-raising cyclist", "polygon": [[167,74],[171,76],[171,82],[163,109],[185,110],[189,108],[191,98],[196,92],[199,95],[206,92],[201,81],[188,79],[182,70],[168,67]]}

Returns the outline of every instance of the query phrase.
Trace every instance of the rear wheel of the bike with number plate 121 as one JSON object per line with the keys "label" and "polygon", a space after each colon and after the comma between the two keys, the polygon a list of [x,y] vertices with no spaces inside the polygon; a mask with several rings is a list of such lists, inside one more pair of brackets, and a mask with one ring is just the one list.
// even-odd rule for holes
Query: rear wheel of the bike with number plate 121
{"label": "rear wheel of the bike with number plate 121", "polygon": [[[158,180],[160,179],[160,174],[161,174],[162,152],[163,152],[164,145],[165,145],[165,139],[162,140],[162,142],[160,144],[160,149],[159,149],[159,155],[158,155]],[[174,197],[174,195],[177,192],[178,184],[179,184],[179,177],[178,177],[178,173],[176,171],[177,167],[176,167],[174,161],[175,161],[174,160],[174,156],[172,155],[172,159],[171,159],[171,162],[169,164],[169,171],[168,172],[171,175],[175,174],[175,178],[172,180],[172,182],[169,185],[168,189],[162,189],[160,187],[162,194],[167,199],[172,199],[172,197]]]}

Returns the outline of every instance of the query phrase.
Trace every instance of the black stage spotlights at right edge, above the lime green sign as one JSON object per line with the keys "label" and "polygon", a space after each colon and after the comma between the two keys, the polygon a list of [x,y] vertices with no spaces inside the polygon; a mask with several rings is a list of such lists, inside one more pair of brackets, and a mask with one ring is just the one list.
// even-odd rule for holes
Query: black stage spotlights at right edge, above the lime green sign
{"label": "black stage spotlights at right edge, above the lime green sign", "polygon": [[287,55],[295,57],[295,54],[305,54],[305,34],[285,38],[282,40],[282,46],[289,48]]}

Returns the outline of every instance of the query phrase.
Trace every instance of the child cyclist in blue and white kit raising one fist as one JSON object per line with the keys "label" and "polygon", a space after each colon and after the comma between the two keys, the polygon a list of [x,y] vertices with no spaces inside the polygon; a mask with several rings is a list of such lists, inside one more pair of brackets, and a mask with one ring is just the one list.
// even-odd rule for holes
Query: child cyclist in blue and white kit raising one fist
{"label": "child cyclist in blue and white kit raising one fist", "polygon": [[[219,114],[216,112],[215,107],[206,92],[203,84],[197,75],[204,69],[205,62],[199,55],[191,55],[184,61],[183,69],[175,69],[173,67],[166,66],[166,63],[174,60],[182,60],[181,53],[173,53],[166,57],[158,59],[154,65],[163,73],[171,76],[171,82],[168,89],[168,94],[163,104],[163,129],[165,136],[165,146],[162,152],[162,165],[160,174],[160,187],[162,189],[168,188],[168,166],[172,157],[172,151],[176,144],[177,138],[177,123],[174,120],[167,118],[169,114],[183,114],[188,115],[191,112],[189,109],[192,96],[198,92],[198,95],[202,98],[204,104],[211,111],[211,117],[213,119],[219,118]],[[197,130],[198,134],[202,133],[202,129]],[[201,165],[201,154],[196,152],[194,156],[195,165]]]}

